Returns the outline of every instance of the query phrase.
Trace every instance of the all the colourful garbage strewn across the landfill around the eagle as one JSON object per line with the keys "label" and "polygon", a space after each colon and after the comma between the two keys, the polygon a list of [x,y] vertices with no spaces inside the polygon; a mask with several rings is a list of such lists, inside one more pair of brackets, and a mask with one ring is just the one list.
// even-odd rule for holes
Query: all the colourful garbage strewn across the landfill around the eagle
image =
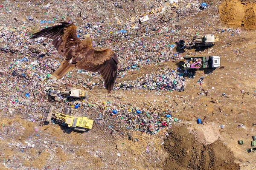
{"label": "all the colourful garbage strewn across the landfill around the eagle", "polygon": [[[99,10],[102,13],[97,16],[101,18],[97,19],[91,15],[91,10],[98,9],[99,6],[91,2],[65,1],[61,3],[61,8],[57,8],[58,1],[35,3],[33,11],[30,11],[30,14],[25,15],[24,18],[17,15],[17,10],[20,11],[20,6],[23,5],[25,8],[28,4],[22,2],[12,4],[11,1],[3,3],[3,8],[1,8],[3,13],[0,16],[15,18],[0,26],[0,43],[2,44],[0,58],[10,63],[3,68],[4,77],[0,77],[0,90],[9,93],[9,95],[0,97],[3,102],[1,107],[6,110],[6,114],[15,113],[17,108],[20,108],[22,113],[28,113],[29,120],[34,122],[41,116],[41,113],[37,111],[49,104],[49,89],[53,83],[76,84],[90,90],[95,87],[104,88],[104,82],[98,73],[74,70],[73,72],[77,71],[79,77],[83,77],[82,80],[69,72],[59,81],[50,75],[58,68],[63,57],[57,54],[51,43],[52,40],[46,38],[31,40],[29,38],[33,33],[58,24],[59,21],[69,23],[73,21],[78,27],[78,37],[81,40],[91,37],[95,49],[111,48],[116,52],[120,63],[118,74],[120,81],[117,81],[115,90],[133,88],[152,91],[184,91],[186,83],[183,74],[187,71],[183,73],[176,68],[165,67],[154,70],[131,81],[122,81],[122,78],[148,65],[159,65],[161,62],[182,59],[182,54],[175,51],[175,42],[180,39],[181,34],[185,34],[180,31],[179,20],[197,14],[199,12],[198,1],[187,3],[175,0],[166,4],[152,1],[145,6],[148,8],[145,14],[140,14],[143,11],[140,6],[134,5],[134,2],[126,4],[127,8],[131,8],[131,14],[119,11],[124,8],[123,3],[110,3],[109,6],[105,3],[100,4],[104,10]],[[111,12],[105,10],[109,7]],[[134,8],[139,13],[135,12]],[[35,11],[43,11],[44,15],[35,17],[38,15]],[[82,14],[81,11],[83,11]],[[141,19],[143,17],[144,19]],[[204,27],[196,29],[204,31]],[[189,34],[191,33],[189,31]],[[8,79],[6,80],[5,77]],[[88,101],[67,100],[57,96],[55,102],[75,107],[77,104],[82,106]],[[101,107],[96,99],[95,103],[95,107]],[[143,109],[149,108],[145,106]],[[122,110],[119,105],[115,104],[111,109]],[[112,112],[108,109],[106,111]],[[151,134],[154,134],[159,127],[163,127],[162,123],[172,122],[168,121],[164,114],[158,117],[156,111],[135,116],[134,114],[137,113],[131,111],[120,111],[120,113],[129,128],[147,131]],[[136,116],[139,119],[134,121]]]}

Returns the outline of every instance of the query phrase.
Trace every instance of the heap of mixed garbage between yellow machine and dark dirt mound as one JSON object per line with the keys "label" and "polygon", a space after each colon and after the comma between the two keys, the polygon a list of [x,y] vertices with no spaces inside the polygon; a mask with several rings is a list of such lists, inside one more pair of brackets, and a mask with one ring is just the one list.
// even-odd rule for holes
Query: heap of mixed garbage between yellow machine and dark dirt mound
{"label": "heap of mixed garbage between yellow machine and dark dirt mound", "polygon": [[[135,104],[117,107],[113,102],[83,103],[81,107],[97,108],[102,113],[98,116],[98,119],[110,115],[111,119],[118,118],[126,125],[128,130],[146,132],[151,135],[157,134],[166,127],[171,128],[174,121],[178,122],[178,119],[171,115],[173,111],[170,108],[159,108],[150,103],[145,103],[141,109],[136,107]],[[113,127],[109,126],[108,128]]]}

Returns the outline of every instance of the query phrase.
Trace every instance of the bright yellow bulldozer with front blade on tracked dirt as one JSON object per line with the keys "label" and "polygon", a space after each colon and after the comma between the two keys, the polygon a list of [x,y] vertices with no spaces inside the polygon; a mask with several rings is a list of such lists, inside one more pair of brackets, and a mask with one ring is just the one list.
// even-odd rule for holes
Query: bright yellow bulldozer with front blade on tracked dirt
{"label": "bright yellow bulldozer with front blade on tracked dirt", "polygon": [[50,122],[52,119],[57,120],[61,125],[72,127],[73,130],[87,131],[93,127],[93,120],[87,118],[84,114],[75,114],[70,116],[70,110],[64,108],[62,113],[55,111],[55,106],[50,106],[44,111],[40,125],[44,125],[46,122]]}

